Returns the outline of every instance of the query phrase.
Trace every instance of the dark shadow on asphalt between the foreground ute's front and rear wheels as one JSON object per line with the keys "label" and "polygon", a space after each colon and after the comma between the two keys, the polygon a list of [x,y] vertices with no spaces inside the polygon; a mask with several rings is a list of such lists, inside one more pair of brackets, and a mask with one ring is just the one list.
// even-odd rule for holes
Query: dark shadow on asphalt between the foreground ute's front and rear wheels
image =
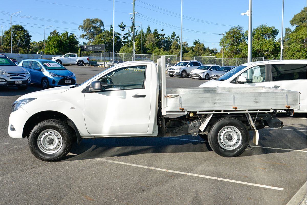
{"label": "dark shadow on asphalt between the foreground ute's front and rear wheels", "polygon": [[[199,137],[190,141],[188,138],[178,140],[166,137],[122,137],[122,138],[97,138],[83,139],[78,146],[73,144],[70,153],[81,155],[86,152],[89,158],[130,156],[152,153],[177,153],[177,152],[211,152],[209,144]],[[193,138],[194,139],[194,138]],[[80,160],[66,156],[65,159]]]}

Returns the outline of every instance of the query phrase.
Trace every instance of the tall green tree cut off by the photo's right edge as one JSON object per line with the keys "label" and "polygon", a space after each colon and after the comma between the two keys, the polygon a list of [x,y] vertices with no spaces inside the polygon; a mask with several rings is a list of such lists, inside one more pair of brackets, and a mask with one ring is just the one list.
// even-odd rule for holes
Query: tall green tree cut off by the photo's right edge
{"label": "tall green tree cut off by the photo's right edge", "polygon": [[283,59],[306,59],[306,14],[304,7],[290,20],[291,26],[295,28],[293,31],[290,28],[285,30]]}

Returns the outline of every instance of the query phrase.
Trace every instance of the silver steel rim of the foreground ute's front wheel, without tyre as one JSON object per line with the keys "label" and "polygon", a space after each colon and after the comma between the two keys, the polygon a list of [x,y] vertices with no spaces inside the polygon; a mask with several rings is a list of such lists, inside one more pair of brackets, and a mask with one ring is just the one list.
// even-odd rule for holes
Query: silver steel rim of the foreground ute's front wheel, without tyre
{"label": "silver steel rim of the foreground ute's front wheel, without tyre", "polygon": [[63,138],[56,130],[47,129],[37,137],[37,146],[41,152],[54,154],[62,148]]}

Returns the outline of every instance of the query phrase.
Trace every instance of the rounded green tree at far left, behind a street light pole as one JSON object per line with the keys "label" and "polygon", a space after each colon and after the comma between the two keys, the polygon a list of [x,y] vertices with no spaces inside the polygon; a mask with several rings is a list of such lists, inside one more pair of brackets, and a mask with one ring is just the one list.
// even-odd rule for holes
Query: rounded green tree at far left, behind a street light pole
{"label": "rounded green tree at far left, behind a street light pole", "polygon": [[[28,53],[30,50],[31,35],[21,25],[12,26],[12,51],[13,53]],[[3,33],[3,50],[10,53],[11,49],[11,30]]]}

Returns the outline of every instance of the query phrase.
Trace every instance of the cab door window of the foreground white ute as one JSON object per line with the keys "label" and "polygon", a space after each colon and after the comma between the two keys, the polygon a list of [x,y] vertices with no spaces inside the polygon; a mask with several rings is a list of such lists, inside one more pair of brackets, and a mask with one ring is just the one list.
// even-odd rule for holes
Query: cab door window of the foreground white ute
{"label": "cab door window of the foreground white ute", "polygon": [[145,88],[146,66],[125,67],[101,77],[98,81],[106,90]]}

